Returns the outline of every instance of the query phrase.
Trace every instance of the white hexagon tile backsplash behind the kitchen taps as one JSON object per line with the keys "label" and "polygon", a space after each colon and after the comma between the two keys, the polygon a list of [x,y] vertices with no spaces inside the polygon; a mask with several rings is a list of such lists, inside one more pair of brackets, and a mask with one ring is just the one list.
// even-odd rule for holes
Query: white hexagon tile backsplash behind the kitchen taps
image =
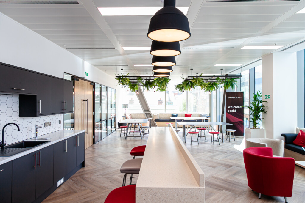
{"label": "white hexagon tile backsplash behind the kitchen taps", "polygon": [[[61,119],[62,114],[40,117],[19,117],[19,96],[0,94],[0,140],[2,139],[2,128],[5,124],[16,123],[20,128],[20,131],[17,130],[15,125],[9,125],[5,128],[4,140],[6,144],[34,138],[35,125],[41,126],[41,128],[38,128],[38,136],[61,130],[62,124],[59,124],[59,120]],[[44,127],[45,122],[51,122],[51,126]]]}

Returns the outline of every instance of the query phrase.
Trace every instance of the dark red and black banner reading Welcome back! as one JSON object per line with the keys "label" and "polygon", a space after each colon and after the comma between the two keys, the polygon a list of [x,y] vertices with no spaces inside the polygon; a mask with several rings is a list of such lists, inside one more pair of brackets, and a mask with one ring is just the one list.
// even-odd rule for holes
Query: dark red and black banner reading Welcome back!
{"label": "dark red and black banner reading Welcome back!", "polygon": [[235,136],[244,136],[244,92],[226,93],[226,122],[227,129],[236,130]]}

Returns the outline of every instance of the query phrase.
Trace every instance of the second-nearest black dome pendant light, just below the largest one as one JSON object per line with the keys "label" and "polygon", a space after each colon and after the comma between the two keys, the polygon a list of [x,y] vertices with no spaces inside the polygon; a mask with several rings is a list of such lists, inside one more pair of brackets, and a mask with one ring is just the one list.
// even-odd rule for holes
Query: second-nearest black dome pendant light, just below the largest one
{"label": "second-nearest black dome pendant light, just below the largest one", "polygon": [[177,56],[181,54],[179,42],[152,41],[150,54],[154,56]]}

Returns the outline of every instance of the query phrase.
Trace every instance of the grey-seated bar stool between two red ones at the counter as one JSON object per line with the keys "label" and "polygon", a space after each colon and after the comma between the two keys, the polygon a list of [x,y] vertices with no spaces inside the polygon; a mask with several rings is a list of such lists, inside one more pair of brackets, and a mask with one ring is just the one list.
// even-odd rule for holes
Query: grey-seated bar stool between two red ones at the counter
{"label": "grey-seated bar stool between two red ones at the counter", "polygon": [[[139,174],[140,172],[140,168],[141,168],[141,164],[142,164],[142,160],[143,158],[139,158],[139,159],[130,159],[128,161],[125,161],[123,163],[123,165],[120,168],[120,172],[121,173],[125,173],[124,177],[123,177],[123,186],[126,185],[126,177],[127,174],[130,174],[130,181],[129,181],[129,185],[131,185],[131,181],[132,181],[132,175],[133,174]],[[135,178],[135,177],[134,177]]]}

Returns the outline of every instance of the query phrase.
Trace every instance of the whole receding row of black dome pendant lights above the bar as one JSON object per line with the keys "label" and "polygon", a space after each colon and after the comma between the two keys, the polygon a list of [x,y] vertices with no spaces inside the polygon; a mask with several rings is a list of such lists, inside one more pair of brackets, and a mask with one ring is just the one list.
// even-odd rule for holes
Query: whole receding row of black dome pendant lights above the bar
{"label": "whole receding row of black dome pendant lights above the bar", "polygon": [[179,41],[191,36],[188,18],[176,7],[176,0],[164,0],[163,8],[150,19],[147,36],[152,39],[150,54],[154,76],[168,77],[181,54]]}

